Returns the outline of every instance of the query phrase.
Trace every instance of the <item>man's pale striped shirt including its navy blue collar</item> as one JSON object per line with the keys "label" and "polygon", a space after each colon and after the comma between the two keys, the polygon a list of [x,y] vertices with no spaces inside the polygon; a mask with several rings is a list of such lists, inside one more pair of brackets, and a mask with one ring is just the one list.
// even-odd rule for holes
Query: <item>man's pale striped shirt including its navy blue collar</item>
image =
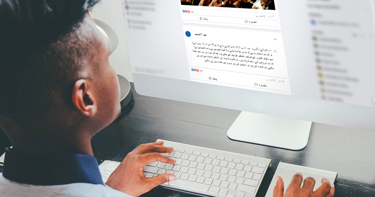
{"label": "man's pale striped shirt including its navy blue collar", "polygon": [[131,197],[104,185],[89,155],[25,155],[7,148],[0,197]]}

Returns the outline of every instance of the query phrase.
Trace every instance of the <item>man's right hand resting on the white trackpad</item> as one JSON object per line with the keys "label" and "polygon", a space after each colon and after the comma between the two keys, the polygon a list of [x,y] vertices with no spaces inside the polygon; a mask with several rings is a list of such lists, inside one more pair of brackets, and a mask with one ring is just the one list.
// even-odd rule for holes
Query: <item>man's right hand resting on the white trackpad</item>
{"label": "man's right hand resting on the white trackpad", "polygon": [[293,176],[287,190],[284,194],[284,181],[278,176],[276,186],[273,189],[273,197],[333,197],[335,194],[335,185],[330,184],[329,180],[323,178],[322,185],[315,191],[312,191],[315,186],[315,179],[307,177],[303,180],[301,173],[296,173]]}

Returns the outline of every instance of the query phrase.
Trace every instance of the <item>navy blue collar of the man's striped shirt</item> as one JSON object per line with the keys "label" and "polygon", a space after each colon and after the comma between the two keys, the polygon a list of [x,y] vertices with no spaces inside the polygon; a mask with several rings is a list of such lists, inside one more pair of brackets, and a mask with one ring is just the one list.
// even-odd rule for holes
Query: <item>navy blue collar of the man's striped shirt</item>
{"label": "navy blue collar of the man's striped shirt", "polygon": [[6,148],[6,179],[31,185],[102,184],[98,161],[90,155],[26,155]]}

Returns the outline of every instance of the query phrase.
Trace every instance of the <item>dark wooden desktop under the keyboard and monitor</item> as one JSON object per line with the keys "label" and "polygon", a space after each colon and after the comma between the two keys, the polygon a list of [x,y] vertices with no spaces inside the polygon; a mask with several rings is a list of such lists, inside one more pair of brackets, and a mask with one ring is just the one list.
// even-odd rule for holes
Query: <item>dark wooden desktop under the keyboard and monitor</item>
{"label": "dark wooden desktop under the keyboard and monitor", "polygon": [[[118,119],[92,140],[99,164],[122,161],[139,144],[163,139],[272,159],[257,197],[266,194],[280,161],[337,172],[335,197],[375,196],[375,132],[313,123],[305,149],[278,149],[230,140],[226,132],[240,111],[150,98],[132,91],[133,99]],[[202,195],[162,186],[142,195],[193,196]]]}

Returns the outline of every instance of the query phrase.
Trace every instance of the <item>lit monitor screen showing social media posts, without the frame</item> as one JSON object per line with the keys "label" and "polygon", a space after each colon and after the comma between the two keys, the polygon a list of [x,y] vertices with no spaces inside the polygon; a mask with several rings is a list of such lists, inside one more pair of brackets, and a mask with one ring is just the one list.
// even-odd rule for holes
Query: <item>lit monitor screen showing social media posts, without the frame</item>
{"label": "lit monitor screen showing social media posts, without the frame", "polygon": [[124,0],[133,73],[375,107],[374,0]]}

